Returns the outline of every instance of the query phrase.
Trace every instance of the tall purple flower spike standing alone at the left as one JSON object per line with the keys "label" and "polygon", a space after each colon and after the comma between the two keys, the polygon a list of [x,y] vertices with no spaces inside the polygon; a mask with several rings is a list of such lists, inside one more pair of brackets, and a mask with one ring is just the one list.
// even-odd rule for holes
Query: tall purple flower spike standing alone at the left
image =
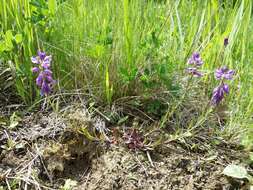
{"label": "tall purple flower spike standing alone at the left", "polygon": [[31,61],[36,64],[36,67],[32,68],[32,72],[38,73],[36,85],[40,88],[40,94],[41,96],[48,95],[55,83],[52,76],[53,72],[50,70],[52,56],[47,56],[45,52],[38,51],[38,55],[31,57]]}

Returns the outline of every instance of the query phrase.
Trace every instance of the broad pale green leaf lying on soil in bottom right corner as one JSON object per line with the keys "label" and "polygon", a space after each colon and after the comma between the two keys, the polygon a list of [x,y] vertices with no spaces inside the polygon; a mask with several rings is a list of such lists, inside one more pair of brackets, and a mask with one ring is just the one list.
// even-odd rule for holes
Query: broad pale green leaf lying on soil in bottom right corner
{"label": "broad pale green leaf lying on soil in bottom right corner", "polygon": [[247,170],[242,166],[237,166],[234,164],[228,165],[224,171],[223,174],[229,177],[237,178],[237,179],[250,179],[250,176],[248,175]]}

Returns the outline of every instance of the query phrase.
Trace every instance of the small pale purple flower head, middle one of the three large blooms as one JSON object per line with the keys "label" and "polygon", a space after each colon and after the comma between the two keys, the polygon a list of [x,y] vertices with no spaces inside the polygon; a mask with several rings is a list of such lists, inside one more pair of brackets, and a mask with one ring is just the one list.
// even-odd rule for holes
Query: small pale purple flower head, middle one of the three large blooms
{"label": "small pale purple flower head, middle one of the three large blooms", "polygon": [[198,52],[194,52],[192,56],[188,59],[188,64],[192,65],[192,67],[187,68],[187,72],[194,77],[202,77],[203,74],[198,70],[201,65],[203,65],[203,61]]}

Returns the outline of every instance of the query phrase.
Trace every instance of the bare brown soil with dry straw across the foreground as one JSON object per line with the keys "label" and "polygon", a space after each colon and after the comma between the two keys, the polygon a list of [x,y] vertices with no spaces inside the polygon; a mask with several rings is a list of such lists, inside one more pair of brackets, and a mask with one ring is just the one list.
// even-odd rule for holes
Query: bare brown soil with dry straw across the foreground
{"label": "bare brown soil with dry straw across the foreground", "polygon": [[[208,138],[198,144],[201,138],[196,137],[184,143],[162,143],[152,150],[134,150],[121,133],[115,144],[115,127],[105,131],[101,119],[85,112],[74,112],[76,118],[68,115],[71,119],[36,113],[24,117],[15,130],[1,127],[0,189],[59,189],[67,179],[77,181],[74,189],[89,190],[247,188],[245,181],[222,174],[231,163],[249,168],[244,163],[247,153],[236,144],[219,140],[214,147]],[[94,136],[102,130],[106,138],[87,139],[77,126]],[[124,131],[123,126],[116,128]],[[199,147],[187,146],[193,142]]]}

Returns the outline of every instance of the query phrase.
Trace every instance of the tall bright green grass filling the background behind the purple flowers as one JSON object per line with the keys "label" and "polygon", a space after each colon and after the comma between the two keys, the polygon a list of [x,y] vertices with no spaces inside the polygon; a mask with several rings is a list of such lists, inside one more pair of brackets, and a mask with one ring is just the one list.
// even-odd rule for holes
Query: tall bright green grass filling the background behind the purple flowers
{"label": "tall bright green grass filling the background behind the purple flowers", "polygon": [[[30,57],[43,49],[53,55],[58,93],[81,89],[109,105],[123,97],[156,99],[148,111],[169,105],[159,113],[161,124],[172,117],[175,125],[195,128],[211,120],[210,112],[219,115],[203,105],[218,84],[213,71],[227,65],[237,74],[220,108],[226,111],[223,131],[238,137],[247,128],[244,142],[250,144],[252,22],[251,0],[1,0],[1,68],[14,68],[15,82],[7,85],[2,74],[0,89],[11,86],[26,105],[38,100]],[[194,51],[206,75],[186,88],[186,62]],[[191,108],[194,117],[183,117]]]}

